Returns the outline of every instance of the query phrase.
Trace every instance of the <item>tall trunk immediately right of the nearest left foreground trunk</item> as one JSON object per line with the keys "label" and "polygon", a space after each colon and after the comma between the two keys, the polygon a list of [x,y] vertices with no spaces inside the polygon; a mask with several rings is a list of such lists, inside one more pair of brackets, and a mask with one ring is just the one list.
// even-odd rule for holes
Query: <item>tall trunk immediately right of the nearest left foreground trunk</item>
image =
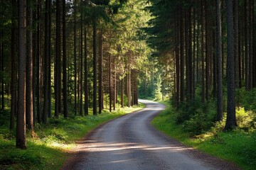
{"label": "tall trunk immediately right of the nearest left foreground trunk", "polygon": [[32,1],[27,0],[26,8],[26,124],[33,136],[33,60],[32,60]]}

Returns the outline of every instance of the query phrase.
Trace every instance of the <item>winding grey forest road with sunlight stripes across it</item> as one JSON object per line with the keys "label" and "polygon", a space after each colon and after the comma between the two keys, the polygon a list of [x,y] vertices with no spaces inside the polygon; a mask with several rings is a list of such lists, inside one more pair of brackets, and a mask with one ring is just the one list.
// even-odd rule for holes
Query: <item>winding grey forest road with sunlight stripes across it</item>
{"label": "winding grey forest road with sunlight stripes across it", "polygon": [[112,120],[78,142],[77,154],[62,169],[238,169],[229,162],[181,145],[150,124],[165,106],[146,108]]}

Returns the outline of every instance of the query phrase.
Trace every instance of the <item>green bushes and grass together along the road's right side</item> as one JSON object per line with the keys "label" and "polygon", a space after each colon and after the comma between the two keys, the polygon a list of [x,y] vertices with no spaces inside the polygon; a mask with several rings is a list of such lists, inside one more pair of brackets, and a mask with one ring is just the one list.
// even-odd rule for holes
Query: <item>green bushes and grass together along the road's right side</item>
{"label": "green bushes and grass together along the road's right side", "polygon": [[234,130],[224,130],[226,113],[223,120],[215,121],[215,101],[182,103],[179,108],[165,101],[166,110],[154,118],[152,124],[184,145],[233,162],[242,169],[255,169],[256,103],[253,98],[256,93],[244,89],[237,92],[240,106],[236,109],[238,127]]}

